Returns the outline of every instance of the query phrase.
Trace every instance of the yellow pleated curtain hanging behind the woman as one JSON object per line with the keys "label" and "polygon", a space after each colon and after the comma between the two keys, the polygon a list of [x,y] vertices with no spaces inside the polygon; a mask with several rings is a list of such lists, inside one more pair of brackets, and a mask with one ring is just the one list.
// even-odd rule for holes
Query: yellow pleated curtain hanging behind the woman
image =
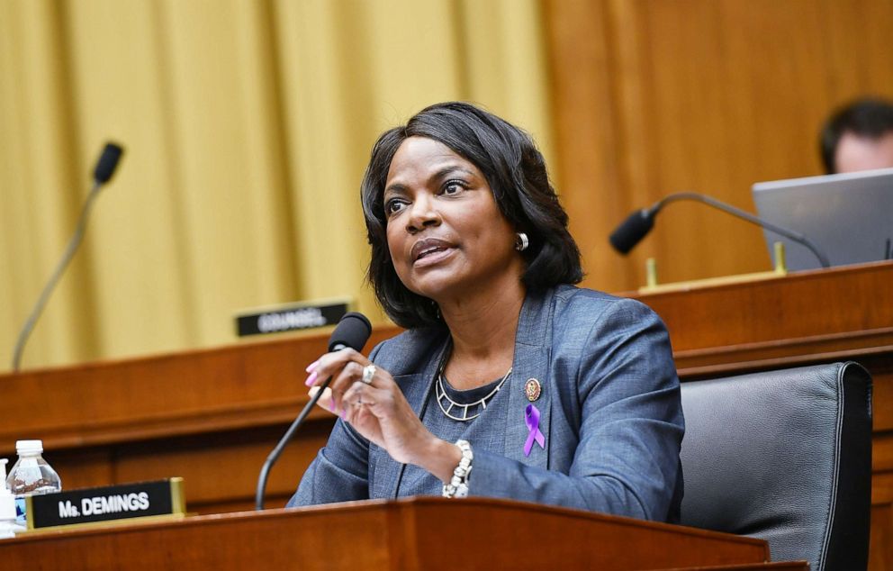
{"label": "yellow pleated curtain hanging behind the woman", "polygon": [[0,1],[0,371],[107,139],[126,152],[23,368],[236,340],[363,283],[376,136],[483,104],[551,155],[536,0]]}

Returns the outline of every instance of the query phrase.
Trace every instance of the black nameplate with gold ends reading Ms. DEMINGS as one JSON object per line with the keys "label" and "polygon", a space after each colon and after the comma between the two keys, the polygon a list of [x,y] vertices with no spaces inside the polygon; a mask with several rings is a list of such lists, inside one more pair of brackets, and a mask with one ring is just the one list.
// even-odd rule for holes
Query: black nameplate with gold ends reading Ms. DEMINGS
{"label": "black nameplate with gold ends reading Ms. DEMINGS", "polygon": [[25,498],[29,530],[184,514],[183,478],[81,488]]}

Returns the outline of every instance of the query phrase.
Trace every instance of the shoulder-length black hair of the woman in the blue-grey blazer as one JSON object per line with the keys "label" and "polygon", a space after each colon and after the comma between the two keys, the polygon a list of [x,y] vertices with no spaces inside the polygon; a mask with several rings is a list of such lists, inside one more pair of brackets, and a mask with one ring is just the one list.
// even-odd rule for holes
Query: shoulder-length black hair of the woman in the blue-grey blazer
{"label": "shoulder-length black hair of the woman in the blue-grey blazer", "polygon": [[567,213],[549,184],[546,161],[528,134],[472,104],[435,104],[379,137],[360,188],[372,246],[367,279],[394,322],[406,328],[442,323],[432,300],[402,284],[388,250],[384,186],[394,154],[410,137],[437,140],[481,169],[502,215],[530,240],[521,254],[527,263],[521,281],[528,290],[582,279],[580,250],[567,231]]}

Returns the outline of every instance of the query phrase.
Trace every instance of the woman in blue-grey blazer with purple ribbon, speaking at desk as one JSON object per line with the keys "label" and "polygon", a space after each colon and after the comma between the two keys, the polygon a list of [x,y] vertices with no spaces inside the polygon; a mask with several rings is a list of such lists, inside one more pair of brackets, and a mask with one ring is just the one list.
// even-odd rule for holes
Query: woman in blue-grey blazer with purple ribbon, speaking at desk
{"label": "woman in blue-grey blazer with purple ribbon, speaking at desk", "polygon": [[580,252],[528,135],[432,105],[377,141],[362,199],[369,280],[408,331],[307,368],[333,376],[320,403],[340,419],[289,505],[467,494],[678,521],[667,333],[572,286]]}

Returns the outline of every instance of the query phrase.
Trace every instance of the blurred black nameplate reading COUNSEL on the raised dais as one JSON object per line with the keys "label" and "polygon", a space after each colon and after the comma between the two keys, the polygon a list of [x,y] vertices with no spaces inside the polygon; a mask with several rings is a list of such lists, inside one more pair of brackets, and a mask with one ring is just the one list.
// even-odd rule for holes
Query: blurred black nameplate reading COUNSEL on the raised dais
{"label": "blurred black nameplate reading COUNSEL on the raised dais", "polygon": [[348,300],[330,300],[239,313],[236,315],[236,334],[247,337],[334,325],[347,313],[348,304]]}

